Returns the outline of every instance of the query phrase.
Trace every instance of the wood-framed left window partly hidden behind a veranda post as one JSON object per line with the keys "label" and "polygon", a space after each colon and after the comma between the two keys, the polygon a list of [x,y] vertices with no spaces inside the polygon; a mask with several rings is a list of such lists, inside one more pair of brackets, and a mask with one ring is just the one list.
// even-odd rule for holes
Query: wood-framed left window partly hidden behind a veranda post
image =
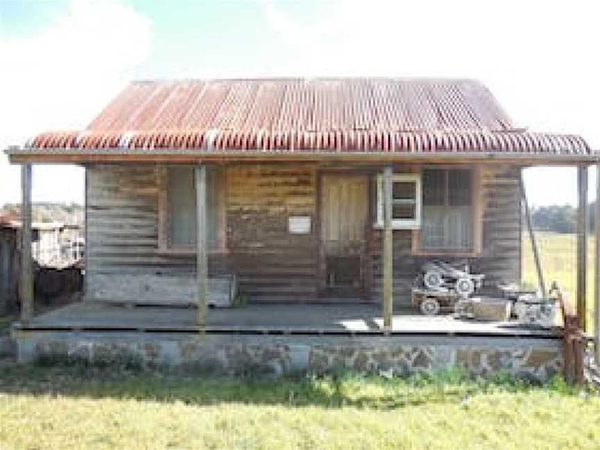
{"label": "wood-framed left window partly hidden behind a veranda post", "polygon": [[[160,248],[195,251],[196,187],[193,166],[165,167],[160,183]],[[209,251],[222,247],[224,240],[224,194],[222,171],[207,167],[206,171],[206,242]]]}

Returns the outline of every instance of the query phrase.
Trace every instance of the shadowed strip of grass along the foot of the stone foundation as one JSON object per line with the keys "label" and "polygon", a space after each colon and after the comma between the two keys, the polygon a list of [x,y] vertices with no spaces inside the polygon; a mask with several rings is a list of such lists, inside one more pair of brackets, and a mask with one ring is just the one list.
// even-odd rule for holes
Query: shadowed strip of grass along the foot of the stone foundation
{"label": "shadowed strip of grass along the foot of the stone foundation", "polygon": [[0,365],[1,394],[183,402],[192,406],[242,403],[391,409],[426,403],[459,403],[475,394],[521,392],[532,388],[509,378],[472,380],[456,371],[391,379],[340,372],[327,377],[274,380],[110,367]]}

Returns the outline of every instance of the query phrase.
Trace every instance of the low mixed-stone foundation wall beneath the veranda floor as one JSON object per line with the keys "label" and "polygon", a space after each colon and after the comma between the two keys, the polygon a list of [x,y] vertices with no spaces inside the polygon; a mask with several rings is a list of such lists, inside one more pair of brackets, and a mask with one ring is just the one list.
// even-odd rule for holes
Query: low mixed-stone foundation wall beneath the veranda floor
{"label": "low mixed-stone foundation wall beneath the veranda floor", "polygon": [[210,374],[281,376],[340,369],[394,376],[462,367],[473,376],[547,381],[562,371],[562,340],[457,336],[274,336],[15,332],[19,359],[94,365],[188,366]]}

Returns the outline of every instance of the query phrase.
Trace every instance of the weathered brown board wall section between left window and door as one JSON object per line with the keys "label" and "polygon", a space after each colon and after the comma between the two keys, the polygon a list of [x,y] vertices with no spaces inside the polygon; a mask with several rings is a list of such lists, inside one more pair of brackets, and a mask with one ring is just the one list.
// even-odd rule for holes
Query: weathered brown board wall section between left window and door
{"label": "weathered brown board wall section between left window and door", "polygon": [[[284,292],[290,301],[314,298],[314,286],[299,283],[313,277],[316,285],[314,167],[240,165],[227,167],[226,174],[228,251],[233,272],[244,278],[240,292],[250,301],[284,299]],[[310,233],[290,234],[292,215],[310,217]],[[265,278],[285,283],[263,283]],[[298,285],[302,292],[294,293]]]}

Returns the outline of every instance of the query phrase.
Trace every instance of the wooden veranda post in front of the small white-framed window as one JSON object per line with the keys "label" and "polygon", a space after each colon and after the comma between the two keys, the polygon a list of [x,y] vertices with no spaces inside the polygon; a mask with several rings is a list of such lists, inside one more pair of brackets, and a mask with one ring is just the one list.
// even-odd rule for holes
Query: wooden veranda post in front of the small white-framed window
{"label": "wooden veranda post in front of the small white-framed window", "polygon": [[392,236],[392,166],[383,168],[383,328],[392,330],[394,266]]}

